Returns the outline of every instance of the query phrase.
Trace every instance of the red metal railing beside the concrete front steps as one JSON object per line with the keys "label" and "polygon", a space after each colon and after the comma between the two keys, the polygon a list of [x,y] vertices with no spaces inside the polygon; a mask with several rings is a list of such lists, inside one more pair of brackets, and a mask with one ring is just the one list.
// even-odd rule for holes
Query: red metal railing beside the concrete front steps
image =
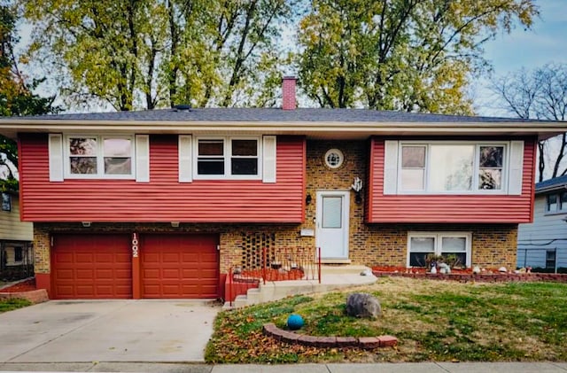
{"label": "red metal railing beside the concrete front steps", "polygon": [[262,248],[260,253],[248,253],[238,265],[229,268],[225,284],[225,299],[230,302],[260,282],[317,280],[321,284],[321,248]]}

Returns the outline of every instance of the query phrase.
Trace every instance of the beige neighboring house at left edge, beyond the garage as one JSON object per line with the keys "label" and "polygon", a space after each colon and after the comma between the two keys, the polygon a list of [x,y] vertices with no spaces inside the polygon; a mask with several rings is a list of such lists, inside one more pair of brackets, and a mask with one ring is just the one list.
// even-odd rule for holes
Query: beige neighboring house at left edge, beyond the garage
{"label": "beige neighboring house at left edge, beyond the garage", "polygon": [[2,193],[0,210],[0,279],[12,279],[33,274],[31,222],[19,221],[18,193]]}

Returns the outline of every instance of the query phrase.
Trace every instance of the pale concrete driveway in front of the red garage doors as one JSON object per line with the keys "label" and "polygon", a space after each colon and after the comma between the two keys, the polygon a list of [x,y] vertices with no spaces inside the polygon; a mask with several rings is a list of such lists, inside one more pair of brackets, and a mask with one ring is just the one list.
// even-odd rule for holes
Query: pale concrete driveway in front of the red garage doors
{"label": "pale concrete driveway in front of the red garage doors", "polygon": [[0,315],[0,362],[204,361],[203,301],[52,300]]}

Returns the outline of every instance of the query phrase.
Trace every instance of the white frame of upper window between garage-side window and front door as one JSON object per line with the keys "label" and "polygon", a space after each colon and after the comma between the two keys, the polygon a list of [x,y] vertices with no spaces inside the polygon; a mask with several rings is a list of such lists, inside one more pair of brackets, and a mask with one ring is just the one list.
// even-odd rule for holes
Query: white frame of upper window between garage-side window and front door
{"label": "white frame of upper window between garage-side window and front door", "polygon": [[[199,140],[222,140],[224,159],[223,175],[199,175],[198,174],[198,142]],[[232,175],[232,141],[233,140],[254,140],[256,141],[256,175]],[[252,159],[253,156],[235,156],[236,159]],[[262,180],[262,136],[193,136],[193,146],[191,154],[193,180]]]}

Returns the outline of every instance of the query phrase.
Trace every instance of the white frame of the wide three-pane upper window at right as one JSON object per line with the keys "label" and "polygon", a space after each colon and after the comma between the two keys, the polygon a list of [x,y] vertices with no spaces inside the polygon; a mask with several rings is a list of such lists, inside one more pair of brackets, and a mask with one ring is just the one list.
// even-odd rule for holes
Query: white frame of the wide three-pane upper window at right
{"label": "white frame of the wide three-pane upper window at right", "polygon": [[[472,162],[473,175],[472,187],[470,190],[431,190],[431,146],[433,145],[473,145],[474,146],[474,159]],[[424,162],[424,176],[423,176],[423,190],[404,190],[401,183],[402,173],[402,154],[404,146],[423,146],[425,147],[425,162]],[[501,189],[490,190],[478,188],[479,173],[480,173],[480,148],[485,146],[501,146],[503,150],[502,159],[502,174],[501,174]],[[507,141],[419,141],[408,140],[399,142],[398,159],[397,159],[397,194],[428,194],[428,195],[455,195],[455,194],[509,194],[509,172],[510,172],[510,148],[511,144]]]}

